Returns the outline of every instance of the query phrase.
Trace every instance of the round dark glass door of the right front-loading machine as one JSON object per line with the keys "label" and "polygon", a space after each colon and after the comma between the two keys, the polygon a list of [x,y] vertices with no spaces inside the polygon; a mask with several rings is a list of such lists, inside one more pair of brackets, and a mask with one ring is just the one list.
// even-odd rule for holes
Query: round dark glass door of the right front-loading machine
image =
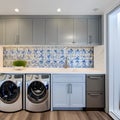
{"label": "round dark glass door of the right front-loading machine", "polygon": [[46,86],[40,81],[31,82],[27,89],[28,99],[33,103],[40,103],[48,96]]}

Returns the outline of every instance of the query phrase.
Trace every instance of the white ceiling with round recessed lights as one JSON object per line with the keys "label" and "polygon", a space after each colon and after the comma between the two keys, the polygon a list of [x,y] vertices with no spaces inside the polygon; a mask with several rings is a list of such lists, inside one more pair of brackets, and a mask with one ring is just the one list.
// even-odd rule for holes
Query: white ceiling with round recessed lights
{"label": "white ceiling with round recessed lights", "polygon": [[[0,0],[0,15],[98,15],[118,3],[120,0]],[[20,12],[15,13],[15,8]],[[57,8],[62,12],[57,13]]]}

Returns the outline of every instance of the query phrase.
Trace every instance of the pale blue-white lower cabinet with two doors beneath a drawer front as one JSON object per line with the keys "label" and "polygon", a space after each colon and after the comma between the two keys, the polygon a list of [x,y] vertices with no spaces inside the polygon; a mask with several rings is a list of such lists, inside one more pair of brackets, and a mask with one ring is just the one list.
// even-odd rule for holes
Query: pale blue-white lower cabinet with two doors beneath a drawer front
{"label": "pale blue-white lower cabinet with two doors beneath a drawer front", "polygon": [[80,109],[85,107],[85,75],[52,75],[53,109]]}

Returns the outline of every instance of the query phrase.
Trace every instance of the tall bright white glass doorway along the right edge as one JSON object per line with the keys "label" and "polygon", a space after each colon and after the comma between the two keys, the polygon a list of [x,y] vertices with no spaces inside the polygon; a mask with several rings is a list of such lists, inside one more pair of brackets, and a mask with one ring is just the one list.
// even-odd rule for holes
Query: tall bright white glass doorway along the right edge
{"label": "tall bright white glass doorway along the right edge", "polygon": [[107,74],[109,114],[120,119],[120,7],[108,14]]}

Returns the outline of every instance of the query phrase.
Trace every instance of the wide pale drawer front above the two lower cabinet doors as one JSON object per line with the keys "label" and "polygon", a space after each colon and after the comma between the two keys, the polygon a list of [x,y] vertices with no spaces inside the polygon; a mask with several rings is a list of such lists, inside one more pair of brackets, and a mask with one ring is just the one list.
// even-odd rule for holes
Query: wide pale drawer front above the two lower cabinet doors
{"label": "wide pale drawer front above the two lower cabinet doors", "polygon": [[82,82],[85,83],[85,75],[76,75],[76,74],[55,74],[52,76],[53,82]]}

